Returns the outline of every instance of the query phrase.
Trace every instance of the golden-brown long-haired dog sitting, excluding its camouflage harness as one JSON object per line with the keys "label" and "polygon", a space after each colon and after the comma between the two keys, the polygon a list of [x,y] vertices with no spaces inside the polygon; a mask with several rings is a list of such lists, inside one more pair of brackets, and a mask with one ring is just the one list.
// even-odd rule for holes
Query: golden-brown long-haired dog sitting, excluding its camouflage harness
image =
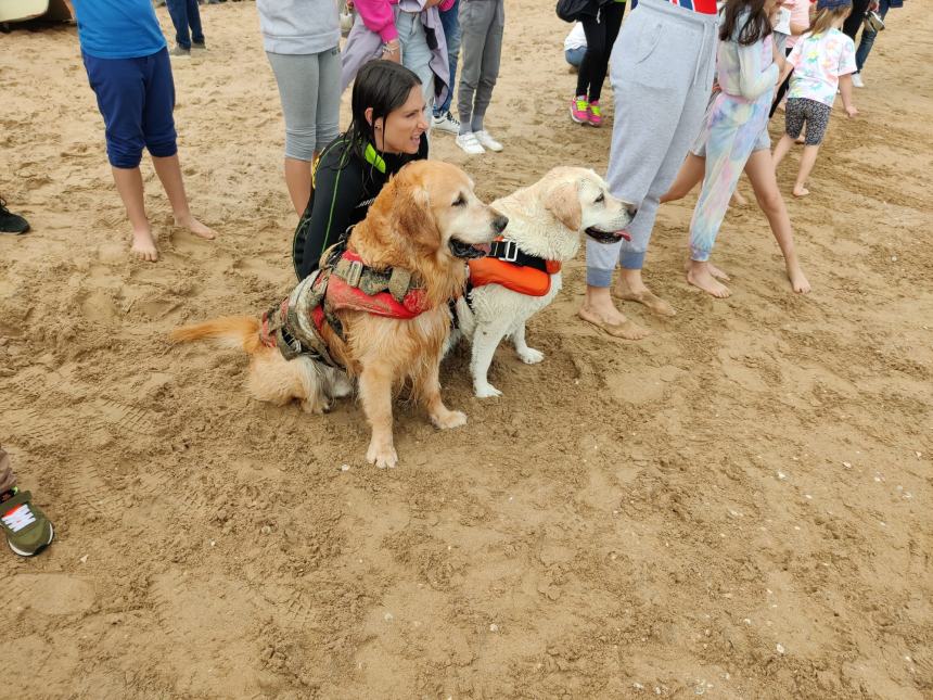
{"label": "golden-brown long-haired dog sitting, excluding its camouflage harness", "polygon": [[[418,161],[399,170],[382,189],[347,250],[370,268],[402,268],[423,291],[426,310],[404,320],[359,310],[338,310],[345,341],[324,323],[321,336],[332,358],[358,378],[359,398],[372,429],[367,460],[395,467],[394,389],[411,381],[414,396],[437,428],[458,428],[467,416],[448,409],[438,380],[442,351],[450,332],[450,300],[463,293],[467,258],[482,256],[508,219],[481,202],[461,169],[438,161]],[[477,247],[480,246],[480,247]],[[260,340],[260,320],[226,317],[172,331],[175,341],[213,338],[233,342],[251,357],[247,390],[259,400],[283,405],[296,398],[320,412],[346,394],[346,377],[307,356],[286,360]]]}

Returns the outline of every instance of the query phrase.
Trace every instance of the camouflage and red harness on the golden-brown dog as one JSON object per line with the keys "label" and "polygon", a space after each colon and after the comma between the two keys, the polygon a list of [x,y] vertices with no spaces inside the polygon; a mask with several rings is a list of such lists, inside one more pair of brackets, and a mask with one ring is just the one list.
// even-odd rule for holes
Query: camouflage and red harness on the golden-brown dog
{"label": "camouflage and red harness on the golden-brown dog", "polygon": [[263,344],[278,347],[285,359],[307,355],[331,367],[341,367],[328,352],[321,334],[324,323],[341,340],[340,310],[386,318],[412,319],[427,310],[424,290],[411,272],[401,268],[375,270],[350,251],[335,247],[327,264],[302,280],[292,293],[263,314]]}

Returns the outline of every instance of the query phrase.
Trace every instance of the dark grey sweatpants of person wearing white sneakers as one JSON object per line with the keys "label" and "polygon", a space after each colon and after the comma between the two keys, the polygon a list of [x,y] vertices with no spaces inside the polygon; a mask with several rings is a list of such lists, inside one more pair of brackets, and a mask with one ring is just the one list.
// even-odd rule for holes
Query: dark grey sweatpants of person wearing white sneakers
{"label": "dark grey sweatpants of person wearing white sneakers", "polygon": [[483,130],[502,55],[504,0],[460,0],[460,132]]}

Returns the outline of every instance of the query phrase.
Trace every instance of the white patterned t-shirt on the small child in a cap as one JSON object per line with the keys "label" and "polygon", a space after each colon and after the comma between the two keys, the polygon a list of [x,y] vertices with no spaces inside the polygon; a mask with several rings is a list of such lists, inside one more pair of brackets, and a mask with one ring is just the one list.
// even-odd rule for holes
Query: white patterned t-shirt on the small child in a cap
{"label": "white patterned t-shirt on the small child in a cap", "polygon": [[832,106],[839,76],[855,73],[855,43],[839,29],[805,34],[788,56],[794,66],[788,98],[806,98]]}

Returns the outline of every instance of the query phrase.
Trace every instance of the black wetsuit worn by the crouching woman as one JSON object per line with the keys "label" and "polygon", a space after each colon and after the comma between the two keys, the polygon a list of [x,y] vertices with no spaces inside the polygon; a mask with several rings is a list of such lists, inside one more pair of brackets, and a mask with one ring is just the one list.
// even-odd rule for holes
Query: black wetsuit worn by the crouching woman
{"label": "black wetsuit worn by the crouching woman", "polygon": [[[391,176],[406,163],[426,157],[426,135],[421,137],[418,153],[380,153],[372,162],[354,153],[345,135],[332,141],[321,154],[315,170],[311,199],[295,230],[292,256],[298,279],[305,279],[318,269],[321,254],[345,238],[349,227],[366,218],[370,205]],[[380,167],[380,161],[384,167]]]}

